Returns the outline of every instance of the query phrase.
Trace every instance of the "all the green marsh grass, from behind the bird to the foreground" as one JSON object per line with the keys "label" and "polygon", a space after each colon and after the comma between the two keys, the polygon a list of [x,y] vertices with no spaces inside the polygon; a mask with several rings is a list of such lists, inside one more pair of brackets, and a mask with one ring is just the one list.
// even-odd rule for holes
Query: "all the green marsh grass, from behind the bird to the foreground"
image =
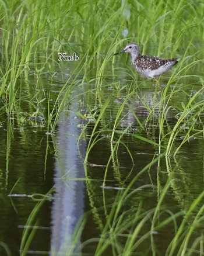
{"label": "all the green marsh grass, from behind the bird to the foreground", "polygon": [[[83,84],[94,85],[92,94],[94,94],[95,102],[100,105],[100,112],[99,115],[94,116],[95,122],[89,137],[84,162],[86,165],[94,145],[103,139],[100,137],[101,134],[109,134],[111,154],[108,158],[103,186],[107,181],[108,167],[111,162],[115,171],[118,171],[117,152],[120,144],[125,147],[132,160],[132,152],[123,140],[123,137],[129,134],[129,126],[124,130],[120,126],[124,118],[122,111],[125,106],[129,106],[139,128],[142,131],[147,131],[146,136],[138,134],[133,136],[139,141],[146,141],[149,145],[153,145],[160,156],[164,154],[177,155],[182,146],[196,136],[203,139],[204,102],[200,97],[203,94],[204,15],[202,1],[106,1],[104,4],[102,0],[97,2],[82,0],[71,2],[68,5],[65,0],[37,0],[34,2],[2,0],[0,1],[0,16],[2,17],[0,30],[2,112],[21,122],[22,115],[20,113],[24,113],[24,110],[19,101],[25,101],[30,106],[27,109],[28,115],[43,116],[47,122],[47,132],[53,133],[56,130],[60,113],[67,108],[68,103],[72,100],[72,92],[75,88],[83,86]],[[144,80],[139,82],[139,76],[129,67],[128,56],[124,57],[125,68],[119,68],[119,58],[112,57],[113,53],[122,49],[130,41],[139,43],[142,54],[164,58],[180,57],[174,72],[168,75],[166,86],[156,88],[152,105],[149,105],[145,98],[141,99],[149,112],[145,122],[139,119],[128,103],[128,99],[138,93],[139,86],[145,84]],[[71,70],[62,71],[61,64],[57,61],[59,52],[76,52],[80,56],[78,63],[73,64]],[[61,91],[53,99],[54,103],[50,102],[51,92],[47,94],[44,88],[41,89],[41,92],[38,92],[37,89],[33,90],[29,99],[24,99],[24,84],[18,83],[19,79],[26,81],[30,75],[33,75],[36,79],[36,88],[38,88],[40,80],[45,74],[50,74],[48,79],[53,81],[56,72],[62,76],[65,72],[65,80]],[[69,76],[66,77],[68,73]],[[110,95],[105,98],[107,94],[105,96],[103,94],[103,89],[110,84],[107,77],[115,79],[111,80],[111,85],[115,88],[118,88],[117,79],[121,77],[131,78],[134,81],[127,89],[125,101],[115,110],[116,115],[112,126],[105,120],[105,112],[112,97]],[[195,84],[200,87],[195,94],[185,92],[186,83],[189,81],[192,81],[192,87]],[[189,96],[189,100],[187,103],[182,103],[181,99],[180,103],[175,104],[173,100],[181,91],[184,92],[184,95]],[[86,96],[86,94],[83,95]],[[35,106],[33,101],[37,102],[35,112],[33,112]],[[40,112],[39,106],[43,106],[46,110]],[[178,111],[174,126],[168,125],[167,117],[171,109]],[[156,134],[159,130],[159,139],[148,133],[147,126],[155,123],[156,126],[152,125],[152,134]],[[196,126],[197,123],[201,123],[202,128]],[[99,124],[102,124],[100,130]],[[184,131],[185,135],[178,144],[177,138]],[[86,127],[83,132],[86,133]],[[8,134],[7,173],[9,171],[10,141],[11,138]],[[156,162],[159,163],[159,159],[160,157],[154,158],[138,175],[142,175]],[[110,206],[111,210],[107,215],[107,223],[101,237],[86,241],[84,246],[92,241],[96,243],[95,255],[102,255],[109,247],[111,247],[112,255],[131,255],[132,251],[136,251],[148,239],[150,241],[149,251],[156,255],[154,231],[160,231],[167,223],[173,223],[175,234],[172,242],[168,245],[166,255],[184,255],[185,253],[194,255],[194,252],[202,255],[203,234],[197,236],[195,240],[191,240],[191,236],[196,230],[197,224],[203,223],[203,206],[199,206],[203,199],[203,193],[192,202],[187,212],[170,212],[163,204],[171,186],[172,177],[170,176],[166,185],[161,188],[161,191],[158,191],[159,198],[153,209],[143,208],[141,201],[134,209],[135,211],[123,211],[126,200],[138,192],[139,188],[133,188],[138,175],[130,182],[125,191],[118,193],[115,203]],[[152,185],[150,187],[152,188]],[[43,200],[37,203],[28,219],[28,225],[36,223],[34,218],[41,203]],[[196,217],[193,219],[191,213],[194,211]],[[169,216],[159,222],[158,216],[164,212],[168,212]],[[181,216],[182,222],[179,224],[177,219]],[[145,231],[142,232],[142,229],[146,223],[149,224],[149,230],[145,233]],[[34,236],[34,231],[29,232],[30,230],[25,230],[23,233],[20,245],[22,255],[26,255]],[[124,246],[121,246],[119,234],[126,237]],[[75,243],[77,242],[75,241]],[[6,247],[5,250],[7,250]]]}

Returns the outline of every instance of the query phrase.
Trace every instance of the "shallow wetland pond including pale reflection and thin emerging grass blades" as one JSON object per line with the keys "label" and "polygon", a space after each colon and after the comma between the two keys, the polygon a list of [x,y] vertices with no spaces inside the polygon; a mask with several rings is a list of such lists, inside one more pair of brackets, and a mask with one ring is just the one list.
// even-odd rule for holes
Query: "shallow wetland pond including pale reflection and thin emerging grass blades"
{"label": "shallow wetland pond including pale reflection and thin emerging grass blades", "polygon": [[[128,234],[133,236],[134,232],[133,226],[125,227],[125,218],[150,213],[136,241],[145,236],[151,230],[151,210],[158,205],[159,195],[171,179],[157,215],[160,222],[175,213],[181,215],[175,222],[166,222],[162,229],[151,230],[132,254],[153,255],[154,248],[156,255],[165,255],[182,214],[203,192],[204,112],[175,134],[172,154],[164,154],[158,144],[168,146],[182,115],[182,105],[186,106],[201,86],[196,81],[185,81],[189,84],[185,87],[171,85],[166,93],[170,94],[173,88],[177,93],[167,103],[169,109],[160,127],[159,102],[168,78],[161,78],[157,89],[145,78],[104,79],[100,96],[96,96],[94,82],[81,80],[64,102],[55,131],[50,132],[47,102],[52,109],[65,79],[56,73],[52,79],[41,78],[38,85],[32,75],[27,81],[19,81],[19,88],[23,88],[18,102],[21,117],[1,115],[0,254],[19,255],[20,251],[23,255],[95,255],[104,230],[106,238],[111,229],[117,230],[117,225],[107,225],[108,215],[114,215],[111,209],[121,202],[119,196],[131,184],[118,213],[119,222],[125,212],[121,229],[115,231],[115,241],[124,247]],[[38,99],[27,103],[27,95],[36,90]],[[203,92],[196,96],[195,103],[203,101]],[[35,111],[37,118],[31,117]],[[187,134],[189,139],[182,144]],[[180,150],[174,155],[178,147]],[[194,212],[191,217],[194,219]],[[141,222],[140,218],[135,221],[135,229]],[[203,236],[202,225],[196,226],[189,244],[199,236]],[[114,243],[114,239],[111,241]],[[107,245],[101,255],[117,254]]]}

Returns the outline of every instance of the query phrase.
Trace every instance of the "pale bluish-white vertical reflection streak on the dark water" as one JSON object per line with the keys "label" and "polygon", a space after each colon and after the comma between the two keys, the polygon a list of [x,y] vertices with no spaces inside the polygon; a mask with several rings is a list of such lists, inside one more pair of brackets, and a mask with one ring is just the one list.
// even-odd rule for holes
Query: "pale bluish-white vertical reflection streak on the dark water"
{"label": "pale bluish-white vertical reflection streak on the dark water", "polygon": [[[78,103],[72,102],[69,118],[64,113],[58,126],[57,158],[55,164],[55,195],[52,207],[52,253],[60,252],[66,255],[74,251],[80,253],[78,247],[73,248],[73,232],[84,213],[84,178],[83,162],[79,158],[78,137],[80,129],[77,127],[80,119],[75,118]],[[85,154],[86,146],[80,144],[80,153]]]}

